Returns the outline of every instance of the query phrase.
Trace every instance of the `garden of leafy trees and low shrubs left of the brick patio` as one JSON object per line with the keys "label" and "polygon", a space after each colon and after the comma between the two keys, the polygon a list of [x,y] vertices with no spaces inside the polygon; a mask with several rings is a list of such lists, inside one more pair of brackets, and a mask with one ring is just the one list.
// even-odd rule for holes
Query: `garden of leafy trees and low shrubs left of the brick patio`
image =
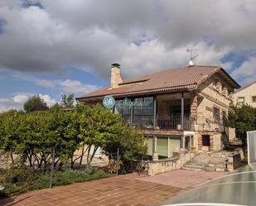
{"label": "garden of leafy trees and low shrubs left of the brick patio", "polygon": [[117,168],[123,174],[134,169],[134,160],[145,158],[142,133],[123,124],[118,114],[64,100],[51,108],[27,103],[25,112],[0,113],[0,155],[6,160],[0,165],[2,195],[109,177],[109,167],[92,165],[99,148],[109,162],[119,152]]}

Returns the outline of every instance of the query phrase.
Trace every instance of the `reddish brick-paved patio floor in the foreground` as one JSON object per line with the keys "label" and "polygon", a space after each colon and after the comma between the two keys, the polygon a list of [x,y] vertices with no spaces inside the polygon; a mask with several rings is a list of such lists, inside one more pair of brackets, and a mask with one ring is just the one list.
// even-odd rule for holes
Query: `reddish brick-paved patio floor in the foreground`
{"label": "reddish brick-paved patio floor in the foreground", "polygon": [[224,172],[194,172],[174,170],[153,177],[120,175],[101,180],[75,183],[53,189],[41,189],[0,200],[0,205],[154,205],[171,199],[184,189],[195,187]]}

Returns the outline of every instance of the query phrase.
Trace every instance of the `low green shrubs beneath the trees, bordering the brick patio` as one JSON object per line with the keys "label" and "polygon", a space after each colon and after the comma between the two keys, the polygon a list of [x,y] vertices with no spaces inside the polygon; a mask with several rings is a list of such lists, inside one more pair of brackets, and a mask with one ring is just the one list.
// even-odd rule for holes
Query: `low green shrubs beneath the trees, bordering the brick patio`
{"label": "low green shrubs beneath the trees, bordering the brick patio", "polygon": [[[36,173],[29,168],[26,170],[8,170],[4,175],[4,178],[0,180],[5,189],[3,193],[7,196],[13,194],[21,194],[32,189],[44,189],[49,187],[50,174],[49,173]],[[21,171],[23,173],[21,173]],[[52,185],[66,185],[73,184],[75,182],[83,182],[89,180],[97,180],[105,177],[109,177],[110,174],[104,172],[96,167],[87,167],[84,170],[65,170],[55,171],[52,177]]]}

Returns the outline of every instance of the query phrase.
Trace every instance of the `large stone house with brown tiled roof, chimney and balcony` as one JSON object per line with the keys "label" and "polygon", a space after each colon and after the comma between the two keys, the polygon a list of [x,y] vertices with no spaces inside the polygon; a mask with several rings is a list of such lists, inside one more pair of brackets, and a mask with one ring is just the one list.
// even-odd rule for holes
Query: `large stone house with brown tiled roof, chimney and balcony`
{"label": "large stone house with brown tiled roof, chimney and balcony", "polygon": [[123,80],[111,68],[111,85],[76,98],[85,104],[115,99],[114,113],[141,127],[153,160],[175,156],[180,148],[219,151],[227,137],[223,124],[232,101],[234,79],[219,66],[186,66]]}

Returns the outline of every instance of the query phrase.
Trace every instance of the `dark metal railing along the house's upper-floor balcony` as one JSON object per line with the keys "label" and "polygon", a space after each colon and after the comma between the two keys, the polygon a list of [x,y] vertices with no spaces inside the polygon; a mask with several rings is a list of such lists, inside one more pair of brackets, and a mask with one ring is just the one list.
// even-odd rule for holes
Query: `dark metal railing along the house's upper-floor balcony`
{"label": "dark metal railing along the house's upper-floor balcony", "polygon": [[[142,129],[154,129],[153,116],[125,116],[123,122],[132,127]],[[156,128],[162,130],[181,130],[181,115],[158,116],[156,119]],[[224,122],[222,118],[212,116],[198,116],[196,120],[190,115],[184,115],[183,129],[186,131],[209,131],[224,132]]]}

